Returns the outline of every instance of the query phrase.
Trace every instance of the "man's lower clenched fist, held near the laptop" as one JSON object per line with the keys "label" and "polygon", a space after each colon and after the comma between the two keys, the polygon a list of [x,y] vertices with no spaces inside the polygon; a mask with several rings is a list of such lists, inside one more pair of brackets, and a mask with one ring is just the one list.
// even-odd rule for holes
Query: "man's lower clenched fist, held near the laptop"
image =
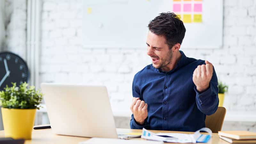
{"label": "man's lower clenched fist, held near the laptop", "polygon": [[144,124],[145,119],[148,116],[148,104],[145,103],[145,101],[140,100],[140,98],[132,98],[132,105],[130,107],[133,118],[137,123],[140,125]]}

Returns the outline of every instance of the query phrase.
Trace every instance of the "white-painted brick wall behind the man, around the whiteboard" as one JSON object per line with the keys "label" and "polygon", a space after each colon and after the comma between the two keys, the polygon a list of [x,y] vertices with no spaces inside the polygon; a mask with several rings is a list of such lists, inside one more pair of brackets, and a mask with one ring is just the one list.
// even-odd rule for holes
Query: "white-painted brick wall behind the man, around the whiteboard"
{"label": "white-painted brick wall behind the man, around the whiteboard", "polygon": [[[7,23],[6,47],[24,56],[26,0],[15,1],[16,4],[5,1],[6,17],[11,20]],[[15,6],[10,15],[12,5]],[[82,6],[81,0],[43,0],[40,82],[106,85],[113,110],[129,113],[126,107],[132,98],[133,76],[150,64],[146,47],[84,48]],[[223,31],[220,49],[181,50],[188,57],[214,64],[218,79],[229,86],[224,102],[228,110],[255,111],[256,0],[224,0]]]}

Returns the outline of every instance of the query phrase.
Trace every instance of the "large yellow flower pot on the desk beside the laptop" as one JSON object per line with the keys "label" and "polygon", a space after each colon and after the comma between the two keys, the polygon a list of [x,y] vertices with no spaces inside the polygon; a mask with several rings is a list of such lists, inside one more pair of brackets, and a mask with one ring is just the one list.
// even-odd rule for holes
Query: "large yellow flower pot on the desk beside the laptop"
{"label": "large yellow flower pot on the desk beside the laptop", "polygon": [[36,109],[1,108],[4,136],[13,139],[31,140]]}

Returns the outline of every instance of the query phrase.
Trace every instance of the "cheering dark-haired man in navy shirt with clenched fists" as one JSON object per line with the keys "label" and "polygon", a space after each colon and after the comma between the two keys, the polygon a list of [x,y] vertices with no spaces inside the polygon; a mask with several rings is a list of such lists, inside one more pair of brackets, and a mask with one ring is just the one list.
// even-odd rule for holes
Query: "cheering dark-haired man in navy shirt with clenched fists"
{"label": "cheering dark-haired man in navy shirt with clenched fists", "polygon": [[218,80],[212,64],[180,50],[186,29],[174,13],[148,24],[147,54],[152,64],[132,84],[131,129],[195,132],[218,108]]}

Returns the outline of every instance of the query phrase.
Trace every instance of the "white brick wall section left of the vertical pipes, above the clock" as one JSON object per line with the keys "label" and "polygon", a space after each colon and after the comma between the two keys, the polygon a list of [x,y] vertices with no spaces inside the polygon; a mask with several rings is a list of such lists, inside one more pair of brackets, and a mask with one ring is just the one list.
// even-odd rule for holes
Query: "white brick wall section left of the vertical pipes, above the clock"
{"label": "white brick wall section left of the vertical pipes, above the clock", "polygon": [[4,50],[26,58],[27,1],[5,0],[6,40]]}

